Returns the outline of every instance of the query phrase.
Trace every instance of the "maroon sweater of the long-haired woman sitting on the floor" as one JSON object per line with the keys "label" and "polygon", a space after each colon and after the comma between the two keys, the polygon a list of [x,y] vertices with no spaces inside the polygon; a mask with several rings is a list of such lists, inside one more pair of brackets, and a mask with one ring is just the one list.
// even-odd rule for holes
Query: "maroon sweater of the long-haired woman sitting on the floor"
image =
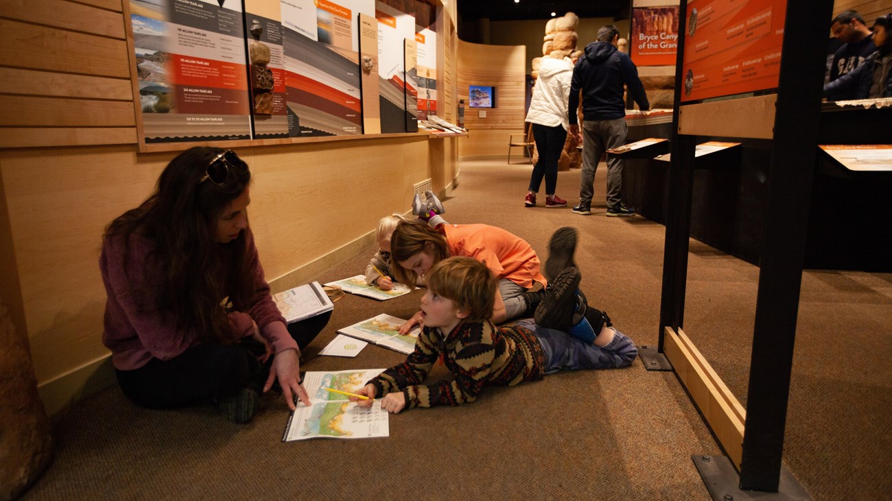
{"label": "maroon sweater of the long-haired woman sitting on the floor", "polygon": [[[269,294],[269,284],[264,279],[263,267],[260,266],[250,229],[245,230],[245,238],[248,239],[245,260],[252,270],[254,281],[251,307],[245,313],[257,322],[260,333],[272,344],[275,353],[285,349],[296,349],[297,343],[291,336],[286,335],[285,329],[270,328],[274,322],[285,324],[285,318],[279,313],[276,303]],[[105,303],[103,344],[111,349],[111,362],[115,368],[125,371],[137,369],[153,357],[161,360],[178,357],[186,349],[199,343],[198,334],[191,329],[178,327],[175,318],[158,311],[151,304],[144,304],[143,308],[140,308],[140,301],[137,301],[130,292],[131,283],[136,284],[136,291],[149,291],[147,295],[155,297],[155,292],[162,287],[163,263],[159,263],[152,254],[153,242],[137,234],[131,234],[129,240],[127,273],[124,271],[122,237],[105,238],[102,256],[99,259],[105,292],[108,294]],[[226,244],[219,246],[220,252],[230,251]],[[221,262],[227,261],[221,259]],[[205,273],[225,275],[226,270],[221,267],[221,269],[206,270]],[[223,298],[219,300],[222,301]],[[235,324],[244,324],[244,321],[236,321]],[[234,333],[234,337],[240,335],[242,334]]]}

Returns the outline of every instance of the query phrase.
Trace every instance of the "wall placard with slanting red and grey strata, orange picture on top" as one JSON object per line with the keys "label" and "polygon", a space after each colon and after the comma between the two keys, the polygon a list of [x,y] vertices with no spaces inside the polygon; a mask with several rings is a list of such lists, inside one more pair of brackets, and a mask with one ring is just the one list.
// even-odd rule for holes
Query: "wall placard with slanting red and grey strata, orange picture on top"
{"label": "wall placard with slanting red and grey strata, orange picture on top", "polygon": [[281,0],[289,136],[362,134],[359,14],[374,0]]}

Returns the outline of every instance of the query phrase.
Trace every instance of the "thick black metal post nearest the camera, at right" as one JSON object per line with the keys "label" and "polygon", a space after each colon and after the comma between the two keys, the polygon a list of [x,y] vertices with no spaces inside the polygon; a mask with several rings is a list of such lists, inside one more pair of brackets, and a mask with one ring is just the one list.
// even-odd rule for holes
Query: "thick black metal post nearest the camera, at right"
{"label": "thick black metal post nearest the camera, at right", "polygon": [[831,0],[789,0],[774,117],[740,489],[777,492]]}

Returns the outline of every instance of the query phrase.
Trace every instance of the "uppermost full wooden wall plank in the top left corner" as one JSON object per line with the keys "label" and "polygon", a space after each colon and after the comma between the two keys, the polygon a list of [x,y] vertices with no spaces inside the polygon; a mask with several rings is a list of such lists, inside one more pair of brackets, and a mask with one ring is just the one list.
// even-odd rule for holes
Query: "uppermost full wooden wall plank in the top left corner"
{"label": "uppermost full wooden wall plank in the top left corner", "polygon": [[4,0],[5,18],[124,39],[120,12],[60,0]]}

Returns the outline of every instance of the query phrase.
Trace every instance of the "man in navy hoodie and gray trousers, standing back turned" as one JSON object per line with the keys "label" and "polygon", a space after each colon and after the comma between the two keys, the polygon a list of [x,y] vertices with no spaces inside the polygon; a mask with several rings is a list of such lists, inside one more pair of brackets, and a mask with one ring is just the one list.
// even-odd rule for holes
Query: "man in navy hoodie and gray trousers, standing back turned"
{"label": "man in navy hoodie and gray trousers, standing back turned", "polygon": [[[629,56],[616,50],[619,30],[612,24],[598,30],[598,41],[585,46],[585,54],[576,62],[570,82],[567,119],[570,134],[582,141],[582,175],[579,180],[579,204],[575,214],[591,215],[595,170],[605,150],[625,143],[624,86],[641,111],[650,108],[648,95],[638,78],[638,69]],[[577,125],[576,109],[582,89],[582,134]],[[634,216],[623,205],[623,160],[607,160],[607,216]]]}

